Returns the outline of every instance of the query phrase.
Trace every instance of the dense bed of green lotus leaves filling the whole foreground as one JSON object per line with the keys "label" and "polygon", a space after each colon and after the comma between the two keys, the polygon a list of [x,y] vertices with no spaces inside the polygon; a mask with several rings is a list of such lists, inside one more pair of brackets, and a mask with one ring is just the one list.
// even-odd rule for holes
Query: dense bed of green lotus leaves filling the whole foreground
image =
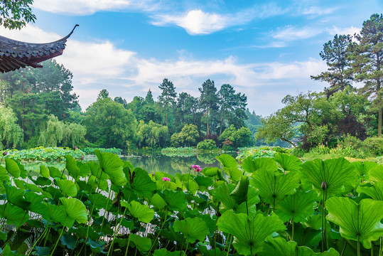
{"label": "dense bed of green lotus leaves filling the whole foreground", "polygon": [[1,255],[382,255],[383,166],[217,156],[153,174],[116,154],[0,166]]}

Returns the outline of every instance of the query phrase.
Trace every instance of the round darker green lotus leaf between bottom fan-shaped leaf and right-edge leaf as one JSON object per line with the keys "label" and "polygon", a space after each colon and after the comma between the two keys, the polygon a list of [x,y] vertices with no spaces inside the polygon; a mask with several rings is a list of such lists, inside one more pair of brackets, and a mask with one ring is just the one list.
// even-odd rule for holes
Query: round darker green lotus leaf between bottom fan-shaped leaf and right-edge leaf
{"label": "round darker green lotus leaf between bottom fan-shaped leaf and right-edge leaf", "polygon": [[276,206],[275,213],[284,222],[293,218],[294,222],[306,220],[306,217],[313,215],[316,201],[318,196],[314,191],[299,191],[293,195],[286,196],[278,206]]}

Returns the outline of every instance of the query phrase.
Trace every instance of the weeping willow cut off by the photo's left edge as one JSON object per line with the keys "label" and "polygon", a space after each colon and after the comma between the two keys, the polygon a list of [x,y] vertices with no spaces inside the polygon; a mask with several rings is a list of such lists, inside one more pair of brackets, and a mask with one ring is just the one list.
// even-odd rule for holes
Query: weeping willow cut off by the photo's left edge
{"label": "weeping willow cut off by the photo's left edge", "polygon": [[23,129],[17,124],[17,117],[9,107],[0,107],[0,147],[9,148],[23,142]]}

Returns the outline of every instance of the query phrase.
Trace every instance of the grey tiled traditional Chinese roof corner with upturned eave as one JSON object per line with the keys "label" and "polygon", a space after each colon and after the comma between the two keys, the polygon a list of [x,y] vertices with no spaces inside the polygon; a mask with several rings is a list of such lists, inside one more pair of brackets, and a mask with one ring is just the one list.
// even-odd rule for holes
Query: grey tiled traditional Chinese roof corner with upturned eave
{"label": "grey tiled traditional Chinese roof corner with upturned eave", "polygon": [[65,43],[77,26],[68,36],[51,43],[25,43],[0,36],[0,72],[6,73],[28,65],[42,68],[38,63],[63,54]]}

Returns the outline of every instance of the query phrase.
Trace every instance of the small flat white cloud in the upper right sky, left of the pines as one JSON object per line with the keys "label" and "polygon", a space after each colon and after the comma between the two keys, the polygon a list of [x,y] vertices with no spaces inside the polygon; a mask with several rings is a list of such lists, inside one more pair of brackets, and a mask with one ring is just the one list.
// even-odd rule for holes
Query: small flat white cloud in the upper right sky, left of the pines
{"label": "small flat white cloud in the upper right sky, left of the pines", "polygon": [[316,36],[322,33],[320,28],[312,27],[303,27],[297,28],[295,26],[285,26],[284,28],[279,28],[276,32],[272,32],[273,38],[283,40],[283,41],[292,41],[297,39],[306,39]]}

